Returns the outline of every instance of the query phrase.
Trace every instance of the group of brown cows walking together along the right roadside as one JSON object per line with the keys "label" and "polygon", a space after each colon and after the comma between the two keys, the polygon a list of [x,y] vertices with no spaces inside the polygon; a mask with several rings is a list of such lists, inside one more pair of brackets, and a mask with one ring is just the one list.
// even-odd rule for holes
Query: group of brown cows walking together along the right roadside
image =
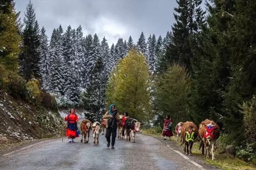
{"label": "group of brown cows walking together along the right roadside", "polygon": [[191,151],[194,140],[199,137],[201,140],[200,148],[202,147],[202,154],[205,154],[206,149],[206,158],[208,159],[210,157],[210,146],[212,146],[212,160],[215,160],[215,144],[216,140],[220,137],[220,127],[215,121],[205,119],[199,125],[199,129],[193,122],[180,122],[175,126],[175,131],[177,133],[177,140],[181,137],[182,144],[185,142],[184,152],[186,154],[192,155]]}

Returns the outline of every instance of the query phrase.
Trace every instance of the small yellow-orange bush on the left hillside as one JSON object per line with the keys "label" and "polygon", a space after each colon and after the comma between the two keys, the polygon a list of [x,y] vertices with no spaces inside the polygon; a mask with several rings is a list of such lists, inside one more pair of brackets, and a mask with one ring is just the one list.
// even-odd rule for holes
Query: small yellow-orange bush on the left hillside
{"label": "small yellow-orange bush on the left hillside", "polygon": [[42,101],[42,92],[40,90],[40,82],[36,79],[30,79],[28,83],[26,83],[26,88],[32,94],[32,96],[36,99],[36,101]]}

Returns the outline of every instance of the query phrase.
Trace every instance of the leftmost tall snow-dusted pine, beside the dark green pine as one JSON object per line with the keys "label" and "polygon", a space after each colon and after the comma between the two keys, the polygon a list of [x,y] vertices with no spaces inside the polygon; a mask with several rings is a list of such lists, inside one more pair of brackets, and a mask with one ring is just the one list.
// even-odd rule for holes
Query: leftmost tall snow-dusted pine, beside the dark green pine
{"label": "leftmost tall snow-dusted pine, beside the dark green pine", "polygon": [[40,74],[41,74],[41,85],[46,91],[49,90],[49,72],[50,72],[50,57],[49,57],[49,46],[48,46],[48,36],[45,33],[45,28],[43,27],[40,32]]}

